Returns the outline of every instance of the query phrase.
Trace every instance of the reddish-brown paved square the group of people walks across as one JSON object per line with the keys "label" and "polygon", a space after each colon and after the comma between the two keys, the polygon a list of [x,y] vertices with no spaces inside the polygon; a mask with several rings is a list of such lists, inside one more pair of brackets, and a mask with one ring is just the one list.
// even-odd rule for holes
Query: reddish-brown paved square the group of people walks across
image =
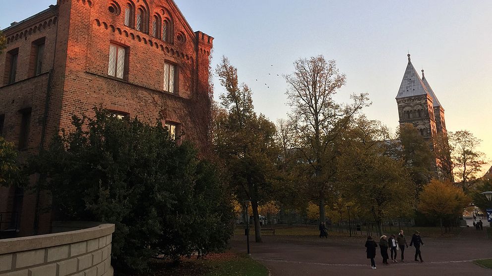
{"label": "reddish-brown paved square the group of people walks across", "polygon": [[[492,270],[474,263],[476,259],[492,258],[492,241],[487,240],[485,230],[465,228],[453,238],[426,238],[421,247],[424,263],[414,262],[415,249],[405,250],[406,262],[383,265],[379,250],[376,251],[376,270],[370,269],[366,258],[366,239],[314,237],[263,236],[262,243],[252,237],[251,256],[264,264],[272,276],[319,275],[492,275]],[[410,235],[407,234],[410,243]],[[246,253],[246,237],[236,235],[233,250]],[[398,260],[400,251],[398,251]]]}

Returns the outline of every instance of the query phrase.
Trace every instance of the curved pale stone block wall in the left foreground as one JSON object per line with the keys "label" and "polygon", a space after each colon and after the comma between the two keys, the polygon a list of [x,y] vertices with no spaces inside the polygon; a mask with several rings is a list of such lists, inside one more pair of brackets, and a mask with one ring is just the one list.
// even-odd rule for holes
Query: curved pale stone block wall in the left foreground
{"label": "curved pale stone block wall in the left foreground", "polygon": [[115,225],[0,240],[0,276],[113,276]]}

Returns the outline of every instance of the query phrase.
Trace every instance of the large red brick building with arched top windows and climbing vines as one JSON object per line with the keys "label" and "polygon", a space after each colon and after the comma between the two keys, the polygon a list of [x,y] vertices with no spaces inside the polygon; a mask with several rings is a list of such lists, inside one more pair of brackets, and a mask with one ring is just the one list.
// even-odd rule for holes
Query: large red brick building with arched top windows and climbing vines
{"label": "large red brick building with arched top windows and climbing vines", "polygon": [[[213,38],[193,32],[173,0],[58,0],[3,33],[0,135],[21,160],[93,107],[161,115],[176,138],[206,150]],[[37,183],[1,188],[3,234],[50,231],[50,196]]]}

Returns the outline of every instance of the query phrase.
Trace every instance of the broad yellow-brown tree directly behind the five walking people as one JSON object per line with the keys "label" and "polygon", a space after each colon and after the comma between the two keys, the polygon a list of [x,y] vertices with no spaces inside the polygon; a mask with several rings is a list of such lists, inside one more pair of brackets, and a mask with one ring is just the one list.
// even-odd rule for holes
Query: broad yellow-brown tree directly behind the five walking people
{"label": "broad yellow-brown tree directly behind the five walking people", "polygon": [[360,117],[344,136],[339,179],[344,195],[359,214],[371,217],[378,233],[382,222],[406,215],[413,208],[415,184],[404,161],[388,151],[388,132],[378,121]]}

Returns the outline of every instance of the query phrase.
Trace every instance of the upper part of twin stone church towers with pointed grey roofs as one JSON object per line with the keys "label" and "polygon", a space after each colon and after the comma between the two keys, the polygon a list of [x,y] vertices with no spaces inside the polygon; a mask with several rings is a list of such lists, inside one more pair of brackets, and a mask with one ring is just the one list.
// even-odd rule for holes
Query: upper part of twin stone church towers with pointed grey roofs
{"label": "upper part of twin stone church towers with pointed grey roofs", "polygon": [[446,134],[444,108],[432,91],[422,70],[422,79],[408,54],[408,64],[396,95],[400,124],[413,124],[425,138]]}

